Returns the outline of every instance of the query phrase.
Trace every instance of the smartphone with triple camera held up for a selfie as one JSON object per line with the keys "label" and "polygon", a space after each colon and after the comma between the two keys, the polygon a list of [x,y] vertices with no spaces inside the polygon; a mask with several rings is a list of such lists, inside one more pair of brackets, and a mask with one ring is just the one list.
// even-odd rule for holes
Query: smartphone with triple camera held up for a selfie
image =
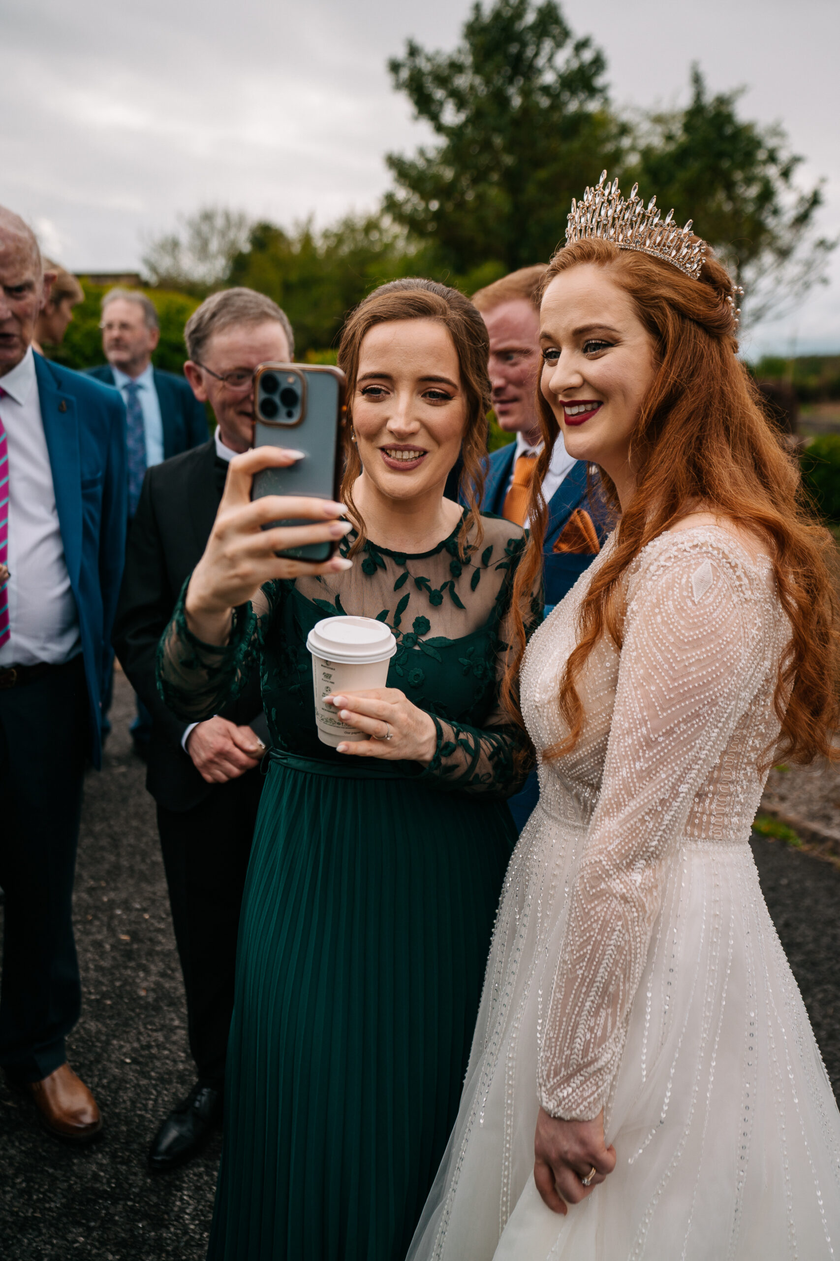
{"label": "smartphone with triple camera held up for a selfie", "polygon": [[[296,494],[338,499],[341,484],[341,435],[345,415],[345,377],[340,368],[312,363],[262,363],[254,373],[254,446],[292,446],[304,459],[285,469],[262,469],[254,475],[252,499],[266,494]],[[307,526],[306,520],[272,521],[273,526]],[[307,543],[277,552],[296,560],[325,561],[339,541]]]}

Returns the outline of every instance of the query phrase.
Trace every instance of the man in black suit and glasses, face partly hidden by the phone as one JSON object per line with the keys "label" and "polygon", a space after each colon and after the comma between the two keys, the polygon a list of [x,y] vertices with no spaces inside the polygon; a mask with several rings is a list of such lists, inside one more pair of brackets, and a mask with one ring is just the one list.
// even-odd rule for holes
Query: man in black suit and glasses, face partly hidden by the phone
{"label": "man in black suit and glasses, face partly hidden by the phone", "polygon": [[253,836],[267,729],[259,681],[204,723],[186,725],[157,695],[155,654],[184,581],[215,518],[228,463],[253,443],[254,369],[288,362],[293,335],[281,309],[251,289],[208,298],[184,330],[185,376],[217,430],[209,443],[150,468],[126,551],[113,644],[152,715],[146,787],[157,803],[175,939],[184,973],[198,1081],[161,1125],[154,1170],[191,1159],[222,1115],[233,1010],[239,904]]}

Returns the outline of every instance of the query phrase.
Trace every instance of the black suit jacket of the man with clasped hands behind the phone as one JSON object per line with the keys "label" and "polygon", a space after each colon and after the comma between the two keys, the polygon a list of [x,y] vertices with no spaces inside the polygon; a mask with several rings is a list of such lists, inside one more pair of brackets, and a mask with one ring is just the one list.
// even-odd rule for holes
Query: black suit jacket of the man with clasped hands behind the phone
{"label": "black suit jacket of the man with clasped hands behind the phone", "polygon": [[[224,487],[220,463],[215,443],[209,441],[147,469],[128,530],[113,647],[152,716],[146,787],[166,810],[191,810],[214,788],[181,748],[188,724],[157,694],[155,656],[181,586],[213,528]],[[239,700],[219,712],[242,726],[262,714],[256,675]]]}

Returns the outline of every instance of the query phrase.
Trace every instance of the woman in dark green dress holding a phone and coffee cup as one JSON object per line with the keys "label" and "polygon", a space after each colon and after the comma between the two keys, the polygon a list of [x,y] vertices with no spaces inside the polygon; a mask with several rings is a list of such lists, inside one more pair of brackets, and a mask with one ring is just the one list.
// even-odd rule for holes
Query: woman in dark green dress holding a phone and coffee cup
{"label": "woman in dark green dress holding a phone and coffee cup", "polygon": [[[480,517],[487,335],[457,291],[395,281],[350,318],[346,508],[251,503],[230,463],[207,551],[161,641],[195,721],[258,668],[272,736],[239,928],[212,1261],[402,1261],[458,1107],[529,767],[500,680],[523,532]],[[471,506],[443,497],[458,454]],[[338,521],[340,513],[349,521]],[[297,527],[261,526],[290,517]],[[327,518],[327,520],[325,520]],[[276,550],[341,537],[322,565]],[[388,686],[315,726],[306,637],[385,622]],[[540,617],[535,599],[529,624]]]}

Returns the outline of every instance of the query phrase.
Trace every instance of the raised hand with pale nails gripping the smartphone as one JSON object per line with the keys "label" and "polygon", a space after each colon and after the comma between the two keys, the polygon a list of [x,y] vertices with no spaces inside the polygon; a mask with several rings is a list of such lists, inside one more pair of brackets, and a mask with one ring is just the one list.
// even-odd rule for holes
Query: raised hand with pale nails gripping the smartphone
{"label": "raised hand with pale nails gripping the smartphone", "polygon": [[[338,518],[340,503],[329,499],[264,496],[251,501],[254,473],[287,468],[301,459],[300,451],[259,446],[230,460],[228,480],[201,560],[186,591],[186,620],[204,643],[227,643],[230,613],[252,600],[263,583],[301,574],[336,574],[353,561],[332,556],[320,564],[275,555],[290,547],[343,538],[351,528]],[[305,518],[311,526],[275,526],[272,521]]]}

